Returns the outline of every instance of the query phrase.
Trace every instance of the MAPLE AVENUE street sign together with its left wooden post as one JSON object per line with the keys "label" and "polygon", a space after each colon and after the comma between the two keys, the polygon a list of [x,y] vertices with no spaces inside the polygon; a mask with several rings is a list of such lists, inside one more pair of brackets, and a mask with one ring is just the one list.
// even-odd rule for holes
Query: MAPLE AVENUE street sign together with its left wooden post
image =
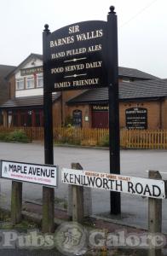
{"label": "MAPLE AVENUE street sign together with its left wooden post", "polygon": [[46,189],[52,189],[58,183],[57,166],[1,160],[0,169],[1,177],[12,180],[11,219],[13,224],[21,221],[22,182],[42,184]]}

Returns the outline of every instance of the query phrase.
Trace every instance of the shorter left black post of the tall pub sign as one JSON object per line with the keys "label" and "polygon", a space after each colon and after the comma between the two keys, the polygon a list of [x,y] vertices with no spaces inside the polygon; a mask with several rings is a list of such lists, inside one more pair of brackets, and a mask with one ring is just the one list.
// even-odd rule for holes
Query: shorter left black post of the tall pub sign
{"label": "shorter left black post of the tall pub sign", "polygon": [[[44,113],[44,159],[45,164],[54,164],[52,93],[49,92],[49,26],[43,31],[43,113]],[[45,72],[46,71],[46,72]],[[55,189],[43,186],[43,232],[54,232]]]}

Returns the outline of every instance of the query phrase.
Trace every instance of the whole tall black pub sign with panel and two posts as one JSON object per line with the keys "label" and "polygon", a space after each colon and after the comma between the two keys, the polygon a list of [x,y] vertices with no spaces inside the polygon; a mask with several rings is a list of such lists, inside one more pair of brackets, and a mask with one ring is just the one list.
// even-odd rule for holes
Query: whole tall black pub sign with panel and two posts
{"label": "whole tall black pub sign with panel and two posts", "polygon": [[[108,87],[110,172],[120,173],[118,113],[117,15],[110,8],[107,22],[78,22],[49,32],[43,31],[43,108],[45,163],[53,164],[52,92]],[[44,191],[44,187],[43,187]],[[43,212],[53,216],[54,192],[47,190]],[[44,196],[43,196],[44,198]],[[120,194],[111,193],[111,213],[119,214]],[[52,212],[51,215],[50,212]],[[43,223],[47,221],[43,218]],[[53,223],[52,223],[53,225]],[[47,230],[47,225],[46,229]],[[50,226],[51,229],[51,226]]]}

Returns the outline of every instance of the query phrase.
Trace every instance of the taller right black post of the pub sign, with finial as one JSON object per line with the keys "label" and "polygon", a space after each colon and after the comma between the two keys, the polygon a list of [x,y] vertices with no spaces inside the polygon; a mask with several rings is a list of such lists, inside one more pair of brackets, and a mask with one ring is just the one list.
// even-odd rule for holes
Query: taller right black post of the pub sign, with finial
{"label": "taller right black post of the pub sign, with finial", "polygon": [[[118,102],[118,26],[117,15],[111,6],[107,15],[107,74],[109,96],[110,172],[120,174],[119,102]],[[121,197],[111,192],[111,213],[121,213]]]}

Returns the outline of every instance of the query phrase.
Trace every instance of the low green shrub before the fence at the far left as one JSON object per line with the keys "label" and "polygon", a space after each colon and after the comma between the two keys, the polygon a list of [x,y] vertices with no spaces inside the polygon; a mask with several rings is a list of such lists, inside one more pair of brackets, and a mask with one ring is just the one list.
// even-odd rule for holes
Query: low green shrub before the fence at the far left
{"label": "low green shrub before the fence at the far left", "polygon": [[26,136],[25,131],[14,130],[9,133],[2,132],[0,133],[0,140],[5,142],[18,142],[18,143],[29,143],[30,140]]}

